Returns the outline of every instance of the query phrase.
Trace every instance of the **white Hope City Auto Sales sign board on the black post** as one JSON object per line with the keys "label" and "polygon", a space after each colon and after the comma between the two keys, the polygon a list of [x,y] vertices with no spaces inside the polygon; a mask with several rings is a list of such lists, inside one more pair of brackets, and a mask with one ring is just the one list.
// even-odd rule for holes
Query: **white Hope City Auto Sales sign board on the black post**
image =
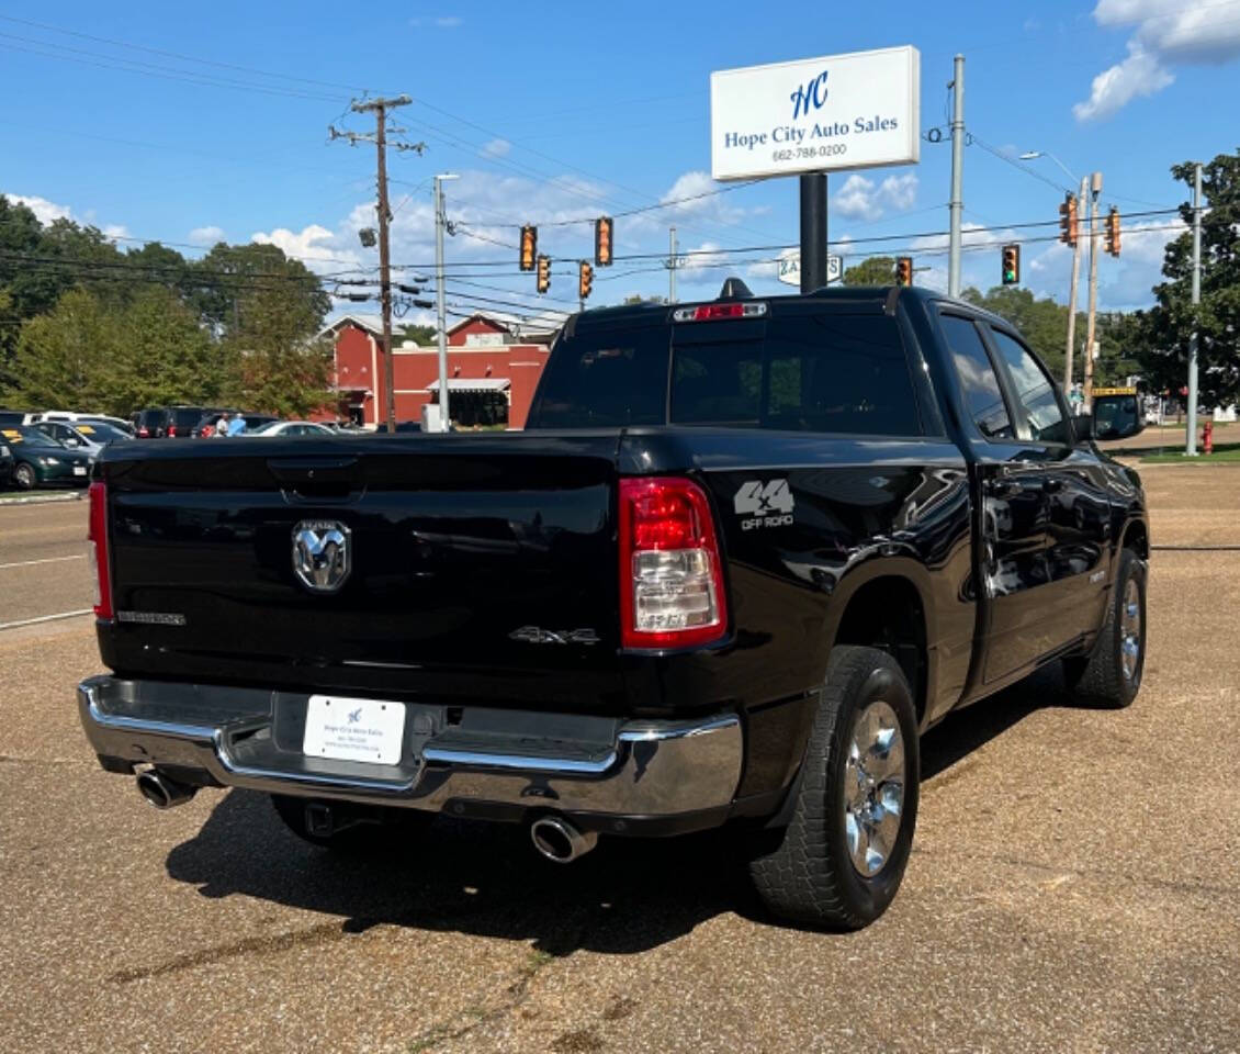
{"label": "white Hope City Auto Sales sign board on the black post", "polygon": [[915,47],[889,47],[712,73],[711,175],[914,164],[920,71]]}

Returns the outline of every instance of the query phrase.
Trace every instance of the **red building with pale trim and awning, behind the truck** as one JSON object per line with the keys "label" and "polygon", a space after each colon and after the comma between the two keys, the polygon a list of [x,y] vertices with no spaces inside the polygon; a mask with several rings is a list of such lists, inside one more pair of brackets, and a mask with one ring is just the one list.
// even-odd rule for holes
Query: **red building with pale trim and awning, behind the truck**
{"label": "red building with pale trim and awning, behind the truck", "polygon": [[[384,419],[383,329],[378,315],[350,314],[320,335],[335,345],[340,402],[317,419],[376,428]],[[502,314],[476,314],[448,330],[448,409],[459,424],[523,428],[554,330]],[[439,402],[439,348],[393,337],[397,420],[422,420]]]}

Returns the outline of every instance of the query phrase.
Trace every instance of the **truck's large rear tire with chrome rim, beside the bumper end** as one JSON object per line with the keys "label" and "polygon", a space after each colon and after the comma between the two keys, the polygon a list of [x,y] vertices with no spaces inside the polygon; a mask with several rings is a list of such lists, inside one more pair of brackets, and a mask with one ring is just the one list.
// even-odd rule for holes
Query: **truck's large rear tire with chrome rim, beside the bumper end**
{"label": "truck's large rear tire with chrome rim, beside the bumper end", "polygon": [[913,846],[919,742],[913,693],[895,660],[836,647],[787,827],[758,838],[749,872],[776,916],[838,930],[892,903]]}

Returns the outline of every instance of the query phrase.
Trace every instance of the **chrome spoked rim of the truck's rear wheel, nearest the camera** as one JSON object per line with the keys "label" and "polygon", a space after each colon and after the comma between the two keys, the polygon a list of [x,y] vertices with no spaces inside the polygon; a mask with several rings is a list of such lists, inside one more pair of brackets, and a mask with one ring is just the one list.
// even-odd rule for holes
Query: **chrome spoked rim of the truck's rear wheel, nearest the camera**
{"label": "chrome spoked rim of the truck's rear wheel, nearest the camera", "polygon": [[853,867],[873,878],[887,863],[904,815],[904,738],[895,711],[874,699],[857,714],[844,763],[844,833]]}

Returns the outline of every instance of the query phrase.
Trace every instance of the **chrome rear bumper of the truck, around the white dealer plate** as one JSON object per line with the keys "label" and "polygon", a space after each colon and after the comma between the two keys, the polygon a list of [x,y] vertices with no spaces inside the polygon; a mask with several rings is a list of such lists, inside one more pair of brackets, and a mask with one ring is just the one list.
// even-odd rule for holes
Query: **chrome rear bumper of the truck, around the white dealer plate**
{"label": "chrome rear bumper of the truck, around the white dealer plate", "polygon": [[474,802],[634,818],[724,808],[740,782],[735,714],[620,722],[409,703],[399,764],[366,765],[301,753],[306,698],[107,676],[78,686],[82,727],[110,771],[154,765],[435,812]]}

